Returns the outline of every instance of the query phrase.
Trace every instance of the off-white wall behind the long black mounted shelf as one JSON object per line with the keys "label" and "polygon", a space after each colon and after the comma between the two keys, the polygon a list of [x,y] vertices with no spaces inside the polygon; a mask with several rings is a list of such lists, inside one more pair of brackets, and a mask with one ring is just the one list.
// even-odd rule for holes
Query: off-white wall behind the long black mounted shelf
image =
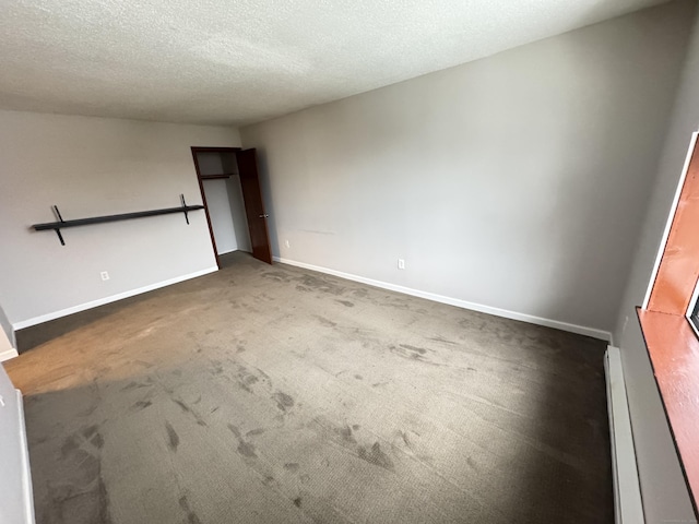
{"label": "off-white wall behind the long black mounted shelf", "polygon": [[[190,147],[237,130],[0,111],[0,303],[13,324],[215,267],[202,211],[52,231],[32,224],[201,203]],[[99,272],[108,271],[103,282]]]}

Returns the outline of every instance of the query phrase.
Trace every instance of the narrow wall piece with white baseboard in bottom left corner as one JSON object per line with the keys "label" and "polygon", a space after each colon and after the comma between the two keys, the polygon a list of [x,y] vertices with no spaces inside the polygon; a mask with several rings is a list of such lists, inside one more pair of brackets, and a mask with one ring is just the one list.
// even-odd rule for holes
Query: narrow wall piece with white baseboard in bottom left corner
{"label": "narrow wall piece with white baseboard in bottom left corner", "polygon": [[24,420],[20,397],[1,365],[0,397],[0,522],[29,524],[34,511]]}

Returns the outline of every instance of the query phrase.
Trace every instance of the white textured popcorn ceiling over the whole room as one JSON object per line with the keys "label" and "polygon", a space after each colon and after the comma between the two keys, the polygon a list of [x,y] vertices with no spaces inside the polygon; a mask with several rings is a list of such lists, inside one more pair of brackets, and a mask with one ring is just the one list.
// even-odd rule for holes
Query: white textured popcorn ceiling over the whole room
{"label": "white textured popcorn ceiling over the whole room", "polygon": [[2,0],[0,108],[244,124],[663,0]]}

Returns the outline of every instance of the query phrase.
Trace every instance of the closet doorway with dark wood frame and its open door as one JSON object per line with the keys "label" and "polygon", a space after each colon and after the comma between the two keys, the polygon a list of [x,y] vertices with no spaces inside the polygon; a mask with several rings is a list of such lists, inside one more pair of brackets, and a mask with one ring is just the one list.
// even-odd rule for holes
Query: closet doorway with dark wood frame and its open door
{"label": "closet doorway with dark wood frame and its open door", "polygon": [[272,263],[256,150],[192,147],[211,245],[220,254],[241,250]]}

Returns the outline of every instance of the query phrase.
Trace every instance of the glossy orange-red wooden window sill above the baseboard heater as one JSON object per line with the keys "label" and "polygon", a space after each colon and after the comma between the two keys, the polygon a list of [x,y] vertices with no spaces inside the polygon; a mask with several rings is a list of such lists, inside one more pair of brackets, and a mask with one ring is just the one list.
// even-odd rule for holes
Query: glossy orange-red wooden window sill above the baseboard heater
{"label": "glossy orange-red wooden window sill above the baseboard heater", "polygon": [[638,309],[653,374],[697,512],[699,502],[699,338],[682,314]]}

